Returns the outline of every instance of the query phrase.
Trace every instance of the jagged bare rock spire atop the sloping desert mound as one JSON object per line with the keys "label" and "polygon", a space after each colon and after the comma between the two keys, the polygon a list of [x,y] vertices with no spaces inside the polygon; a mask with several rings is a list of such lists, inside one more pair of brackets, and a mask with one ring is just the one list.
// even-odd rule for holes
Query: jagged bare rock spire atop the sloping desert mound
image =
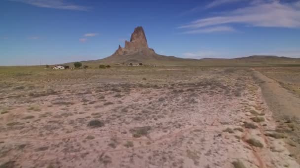
{"label": "jagged bare rock spire atop the sloping desert mound", "polygon": [[122,56],[137,52],[155,54],[154,50],[148,47],[147,38],[143,27],[135,28],[134,32],[131,34],[130,42],[126,40],[124,48],[119,45],[119,48],[113,55]]}

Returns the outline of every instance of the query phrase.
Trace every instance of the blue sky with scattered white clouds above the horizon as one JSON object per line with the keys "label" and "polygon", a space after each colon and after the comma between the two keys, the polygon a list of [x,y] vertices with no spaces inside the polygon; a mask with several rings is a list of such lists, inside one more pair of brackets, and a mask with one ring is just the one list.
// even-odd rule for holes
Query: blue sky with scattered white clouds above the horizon
{"label": "blue sky with scattered white clouds above the horizon", "polygon": [[0,65],[104,58],[137,26],[166,56],[300,57],[300,0],[0,0]]}

